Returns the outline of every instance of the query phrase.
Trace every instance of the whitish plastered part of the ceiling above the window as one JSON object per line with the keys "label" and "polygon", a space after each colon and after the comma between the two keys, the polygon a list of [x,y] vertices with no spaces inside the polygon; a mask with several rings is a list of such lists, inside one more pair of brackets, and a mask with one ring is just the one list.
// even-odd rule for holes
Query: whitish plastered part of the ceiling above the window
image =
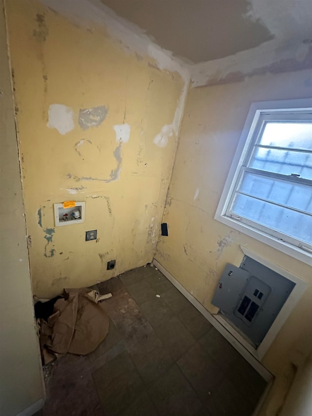
{"label": "whitish plastered part of the ceiling above the window", "polygon": [[[234,2],[235,8],[237,3]],[[190,65],[193,86],[241,82],[254,75],[312,68],[311,1],[250,0],[249,3],[249,10],[244,14],[245,23],[262,22],[271,38],[249,49],[232,50],[223,58],[215,57]],[[220,21],[217,19],[218,23]],[[229,27],[232,25],[235,25],[235,19]],[[224,30],[229,31],[228,28]],[[210,32],[210,35],[219,43],[215,33]],[[253,31],[250,36],[254,37]],[[232,43],[231,36],[226,39],[231,39]]]}

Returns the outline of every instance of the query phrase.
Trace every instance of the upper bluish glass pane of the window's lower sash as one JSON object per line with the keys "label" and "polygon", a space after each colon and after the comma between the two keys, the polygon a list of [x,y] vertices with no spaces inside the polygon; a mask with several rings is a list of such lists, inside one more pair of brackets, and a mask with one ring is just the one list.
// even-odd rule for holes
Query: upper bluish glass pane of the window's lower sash
{"label": "upper bluish glass pane of the window's lower sash", "polygon": [[245,172],[240,192],[312,214],[312,186]]}

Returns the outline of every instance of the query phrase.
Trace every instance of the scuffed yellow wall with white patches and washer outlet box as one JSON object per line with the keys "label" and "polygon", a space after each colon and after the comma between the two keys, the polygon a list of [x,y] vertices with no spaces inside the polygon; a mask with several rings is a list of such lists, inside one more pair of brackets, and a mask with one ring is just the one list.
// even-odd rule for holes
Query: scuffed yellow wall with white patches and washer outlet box
{"label": "scuffed yellow wall with white patches and washer outlet box", "polygon": [[[7,15],[33,290],[50,297],[152,260],[176,132],[153,140],[181,117],[184,81],[104,25],[36,0],[7,2]],[[86,201],[85,223],[55,227],[53,204],[72,199]]]}

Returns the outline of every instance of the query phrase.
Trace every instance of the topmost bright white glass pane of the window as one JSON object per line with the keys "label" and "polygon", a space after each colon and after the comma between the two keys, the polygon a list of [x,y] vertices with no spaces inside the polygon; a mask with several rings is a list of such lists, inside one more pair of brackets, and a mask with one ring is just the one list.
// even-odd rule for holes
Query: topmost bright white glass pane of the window
{"label": "topmost bright white glass pane of the window", "polygon": [[259,144],[312,150],[312,123],[267,122]]}

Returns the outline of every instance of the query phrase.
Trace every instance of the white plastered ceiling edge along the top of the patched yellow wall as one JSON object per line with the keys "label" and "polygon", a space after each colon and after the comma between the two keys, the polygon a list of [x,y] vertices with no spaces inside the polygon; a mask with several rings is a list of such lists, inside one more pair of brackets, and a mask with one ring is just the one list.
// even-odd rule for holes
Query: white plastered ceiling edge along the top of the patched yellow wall
{"label": "white plastered ceiling edge along the top of the patched yellow wall", "polygon": [[190,71],[180,59],[152,42],[137,25],[118,17],[100,0],[41,0],[41,2],[79,26],[89,28],[90,24],[95,23],[104,27],[114,40],[122,43],[125,52],[148,55],[156,60],[160,70],[177,72],[184,82],[188,83]]}

